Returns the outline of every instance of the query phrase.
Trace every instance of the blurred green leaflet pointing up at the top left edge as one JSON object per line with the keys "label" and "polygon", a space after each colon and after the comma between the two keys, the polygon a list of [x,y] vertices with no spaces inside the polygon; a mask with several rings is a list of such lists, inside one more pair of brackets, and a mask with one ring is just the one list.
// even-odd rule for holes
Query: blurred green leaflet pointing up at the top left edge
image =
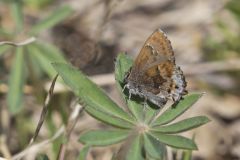
{"label": "blurred green leaflet pointing up at the top left edge", "polygon": [[14,0],[11,4],[11,12],[15,21],[16,32],[18,33],[23,29],[22,2],[19,0]]}

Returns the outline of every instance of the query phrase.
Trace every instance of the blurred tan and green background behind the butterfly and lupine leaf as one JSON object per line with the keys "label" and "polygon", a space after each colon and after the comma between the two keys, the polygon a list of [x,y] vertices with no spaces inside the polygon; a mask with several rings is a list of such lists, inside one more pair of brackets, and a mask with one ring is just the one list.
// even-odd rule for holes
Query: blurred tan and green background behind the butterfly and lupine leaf
{"label": "blurred tan and green background behind the butterfly and lupine leaf", "polygon": [[[189,92],[205,92],[184,114],[207,115],[211,122],[188,132],[199,150],[194,160],[240,159],[240,1],[239,0],[1,0],[0,157],[21,153],[34,134],[49,84],[56,74],[50,63],[70,62],[123,105],[114,84],[114,58],[120,52],[136,57],[147,37],[161,28],[170,39],[176,63]],[[36,147],[25,159],[41,153],[56,159],[73,94],[57,85]],[[78,134],[104,128],[82,113],[67,146],[75,159],[82,145]],[[108,160],[116,146],[96,148],[88,159]]]}

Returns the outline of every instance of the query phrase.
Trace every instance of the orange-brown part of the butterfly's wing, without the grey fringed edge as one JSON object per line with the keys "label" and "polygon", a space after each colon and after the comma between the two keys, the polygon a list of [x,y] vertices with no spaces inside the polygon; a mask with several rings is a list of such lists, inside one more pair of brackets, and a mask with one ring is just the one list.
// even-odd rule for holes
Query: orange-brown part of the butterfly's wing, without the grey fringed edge
{"label": "orange-brown part of the butterfly's wing, without the grey fringed edge", "polygon": [[[161,31],[155,31],[145,42],[133,65],[132,74],[145,90],[168,96],[173,86],[171,76],[175,65],[170,41]],[[130,75],[131,76],[131,75]]]}

